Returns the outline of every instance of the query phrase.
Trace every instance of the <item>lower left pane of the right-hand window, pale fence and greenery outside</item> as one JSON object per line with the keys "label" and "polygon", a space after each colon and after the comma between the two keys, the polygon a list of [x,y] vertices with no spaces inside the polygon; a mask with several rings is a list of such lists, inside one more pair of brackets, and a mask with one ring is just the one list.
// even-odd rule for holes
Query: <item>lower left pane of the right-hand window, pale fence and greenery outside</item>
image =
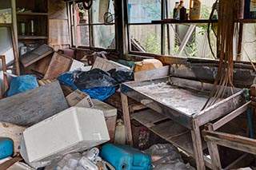
{"label": "lower left pane of the right-hand window, pale fence and greenery outside", "polygon": [[161,26],[130,26],[130,46],[132,51],[161,53]]}

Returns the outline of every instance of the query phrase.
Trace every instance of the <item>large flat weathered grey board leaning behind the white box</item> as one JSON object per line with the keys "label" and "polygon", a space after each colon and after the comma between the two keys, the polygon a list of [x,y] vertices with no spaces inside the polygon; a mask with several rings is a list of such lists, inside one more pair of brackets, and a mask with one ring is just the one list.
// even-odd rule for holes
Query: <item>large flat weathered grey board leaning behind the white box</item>
{"label": "large flat weathered grey board leaning behind the white box", "polygon": [[58,81],[0,100],[0,121],[30,126],[68,108]]}

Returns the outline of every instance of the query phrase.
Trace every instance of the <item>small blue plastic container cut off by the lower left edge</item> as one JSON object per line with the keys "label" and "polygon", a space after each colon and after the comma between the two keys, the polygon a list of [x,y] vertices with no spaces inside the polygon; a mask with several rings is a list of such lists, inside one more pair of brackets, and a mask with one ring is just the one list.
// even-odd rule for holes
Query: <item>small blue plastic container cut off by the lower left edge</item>
{"label": "small blue plastic container cut off by the lower left edge", "polygon": [[0,137],[0,160],[11,156],[14,152],[14,142],[8,138]]}

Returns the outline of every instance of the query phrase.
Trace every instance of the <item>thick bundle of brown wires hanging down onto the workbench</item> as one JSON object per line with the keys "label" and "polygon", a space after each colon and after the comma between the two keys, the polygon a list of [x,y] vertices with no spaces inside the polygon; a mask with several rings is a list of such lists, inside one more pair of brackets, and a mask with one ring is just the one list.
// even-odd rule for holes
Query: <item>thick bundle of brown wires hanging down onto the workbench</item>
{"label": "thick bundle of brown wires hanging down onto the workbench", "polygon": [[[217,1],[216,1],[217,2]],[[202,109],[214,105],[218,99],[233,92],[233,38],[237,22],[236,1],[220,1],[218,6],[218,73],[206,104]],[[229,89],[229,90],[227,90]]]}

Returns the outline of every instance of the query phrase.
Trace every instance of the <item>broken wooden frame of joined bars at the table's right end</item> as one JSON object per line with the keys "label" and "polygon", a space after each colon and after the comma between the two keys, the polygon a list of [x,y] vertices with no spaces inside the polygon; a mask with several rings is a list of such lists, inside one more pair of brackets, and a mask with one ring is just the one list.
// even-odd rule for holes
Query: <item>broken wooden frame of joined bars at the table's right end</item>
{"label": "broken wooden frame of joined bars at the table's right end", "polygon": [[222,169],[218,154],[218,145],[222,145],[227,148],[234,148],[242,152],[256,154],[256,140],[226,132],[215,132],[218,128],[226,125],[226,123],[232,121],[235,117],[245,113],[247,109],[251,109],[251,107],[251,101],[248,101],[246,104],[235,109],[225,117],[222,117],[222,119],[216,121],[214,124],[207,124],[206,129],[202,131],[202,135],[206,140],[210,152],[212,169]]}

